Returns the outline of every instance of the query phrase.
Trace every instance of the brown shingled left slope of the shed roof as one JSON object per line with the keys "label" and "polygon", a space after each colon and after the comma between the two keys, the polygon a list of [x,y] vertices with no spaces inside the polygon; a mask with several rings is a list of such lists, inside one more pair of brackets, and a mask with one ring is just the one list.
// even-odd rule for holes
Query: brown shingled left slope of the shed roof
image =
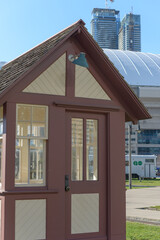
{"label": "brown shingled left slope of the shed roof", "polygon": [[23,73],[27,72],[31,66],[40,61],[40,59],[46,55],[51,48],[55,47],[66,36],[74,31],[80,23],[84,24],[82,20],[74,23],[37,47],[34,47],[30,51],[4,65],[0,70],[0,94],[12,85],[12,83],[15,82]]}

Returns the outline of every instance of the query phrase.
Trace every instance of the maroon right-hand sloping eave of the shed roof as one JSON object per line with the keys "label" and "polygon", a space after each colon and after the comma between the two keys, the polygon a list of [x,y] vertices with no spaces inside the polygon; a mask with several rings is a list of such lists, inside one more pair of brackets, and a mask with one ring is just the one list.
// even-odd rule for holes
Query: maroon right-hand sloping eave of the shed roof
{"label": "maroon right-hand sloping eave of the shed roof", "polygon": [[[119,101],[124,107],[126,111],[126,115],[130,119],[130,121],[133,121],[135,123],[138,120],[151,118],[151,115],[148,113],[147,109],[144,107],[141,101],[137,98],[137,96],[134,94],[132,89],[123,79],[119,71],[115,68],[115,66],[112,64],[112,62],[109,60],[109,58],[106,56],[103,50],[99,47],[99,45],[96,43],[93,37],[88,33],[88,31],[85,29],[84,26],[81,26],[81,33],[86,38],[86,40],[83,41],[83,43],[85,42],[86,45],[88,43],[91,44],[92,49],[96,51],[97,57],[94,58],[94,61],[96,61],[97,64],[100,66],[101,71],[105,75],[107,75],[109,72],[112,72],[112,74],[110,74],[110,76],[112,75],[112,81],[110,81],[110,83],[112,83],[112,85],[114,86],[113,88],[116,89],[117,96],[120,95],[119,93],[121,89],[121,96],[124,93],[126,98],[129,99],[129,101],[127,101],[126,103],[122,101],[121,96],[119,96]],[[80,37],[80,34],[77,36]],[[99,58],[98,58],[98,55],[99,55]],[[99,64],[100,59],[103,62],[102,64]],[[104,67],[105,65],[107,65],[106,68]],[[136,109],[134,109],[134,106],[136,106]]]}

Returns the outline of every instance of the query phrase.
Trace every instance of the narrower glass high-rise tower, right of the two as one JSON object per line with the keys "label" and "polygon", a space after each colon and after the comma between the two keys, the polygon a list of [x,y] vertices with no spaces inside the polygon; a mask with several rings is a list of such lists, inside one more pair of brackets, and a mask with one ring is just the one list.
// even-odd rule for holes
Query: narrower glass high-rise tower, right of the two
{"label": "narrower glass high-rise tower, right of the two", "polygon": [[119,49],[141,51],[140,15],[130,13],[123,18],[119,31]]}

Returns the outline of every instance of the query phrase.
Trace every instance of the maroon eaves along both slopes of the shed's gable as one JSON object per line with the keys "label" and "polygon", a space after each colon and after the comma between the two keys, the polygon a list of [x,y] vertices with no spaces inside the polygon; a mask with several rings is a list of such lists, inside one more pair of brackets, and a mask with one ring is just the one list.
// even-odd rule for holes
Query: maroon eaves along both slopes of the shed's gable
{"label": "maroon eaves along both slopes of the shed's gable", "polygon": [[[86,45],[86,51],[91,54],[91,56],[96,55],[94,61],[100,67],[104,76],[109,76],[110,81],[107,84],[111,87],[113,92],[118,97],[119,102],[121,103],[122,107],[124,108],[126,115],[129,116],[131,121],[136,122],[137,120],[151,118],[145,107],[142,103],[138,100],[135,94],[132,92],[128,84],[124,81],[118,70],[113,66],[110,62],[108,57],[105,55],[103,50],[99,47],[99,45],[95,42],[93,37],[88,33],[86,28],[84,27],[84,22],[79,20],[75,23],[75,28],[72,29],[60,42],[58,42],[52,49],[50,49],[40,60],[34,63],[26,72],[22,73],[20,77],[18,77],[15,82],[13,82],[7,89],[5,89],[0,95],[0,104],[5,102],[7,99],[8,92],[27,74],[34,70],[40,63],[46,60],[53,52],[59,48],[65,41],[67,41],[71,36],[74,35],[77,39],[82,42],[82,45]],[[77,26],[76,26],[77,25]],[[63,30],[64,31],[64,30]],[[61,31],[62,32],[62,31]],[[75,35],[75,33],[78,33]],[[83,38],[85,38],[85,40]],[[93,50],[94,49],[94,50]],[[105,67],[106,66],[106,67]],[[120,95],[121,92],[121,95]],[[121,98],[121,96],[123,98]],[[127,99],[127,104],[125,100]],[[136,109],[134,107],[136,106]]]}

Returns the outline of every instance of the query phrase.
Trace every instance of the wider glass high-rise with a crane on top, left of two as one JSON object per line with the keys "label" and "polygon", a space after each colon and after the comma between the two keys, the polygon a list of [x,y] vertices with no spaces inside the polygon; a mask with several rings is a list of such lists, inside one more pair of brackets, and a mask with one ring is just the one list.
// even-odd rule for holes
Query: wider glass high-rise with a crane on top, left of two
{"label": "wider glass high-rise with a crane on top, left of two", "polygon": [[101,48],[118,49],[119,28],[119,11],[107,8],[93,9],[91,34]]}

